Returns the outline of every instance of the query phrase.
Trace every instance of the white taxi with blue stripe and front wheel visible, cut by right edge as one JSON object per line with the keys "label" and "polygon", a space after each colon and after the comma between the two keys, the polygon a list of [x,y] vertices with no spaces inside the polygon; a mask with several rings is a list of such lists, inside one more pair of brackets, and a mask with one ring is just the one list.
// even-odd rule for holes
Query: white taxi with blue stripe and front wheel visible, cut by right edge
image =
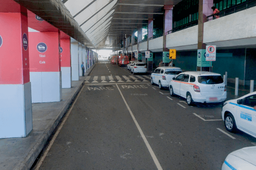
{"label": "white taxi with blue stripe and front wheel visible, cut by right edge", "polygon": [[229,132],[239,129],[256,138],[256,92],[238,99],[225,101],[222,107],[222,120]]}

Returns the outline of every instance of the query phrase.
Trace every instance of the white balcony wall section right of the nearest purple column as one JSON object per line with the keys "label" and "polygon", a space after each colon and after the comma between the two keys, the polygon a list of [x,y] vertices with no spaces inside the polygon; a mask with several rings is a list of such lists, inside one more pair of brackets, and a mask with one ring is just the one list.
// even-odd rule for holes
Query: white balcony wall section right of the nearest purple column
{"label": "white balcony wall section right of the nearest purple column", "polygon": [[217,47],[256,44],[256,7],[204,23],[203,42]]}

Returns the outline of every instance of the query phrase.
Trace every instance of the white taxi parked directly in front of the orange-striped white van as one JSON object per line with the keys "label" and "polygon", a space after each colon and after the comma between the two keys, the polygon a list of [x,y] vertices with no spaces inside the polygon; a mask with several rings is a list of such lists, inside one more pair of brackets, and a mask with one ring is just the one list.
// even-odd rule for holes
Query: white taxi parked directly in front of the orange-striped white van
{"label": "white taxi parked directly in front of the orange-striped white van", "polygon": [[168,87],[173,77],[182,73],[178,67],[158,67],[151,74],[151,84],[158,84],[159,88]]}

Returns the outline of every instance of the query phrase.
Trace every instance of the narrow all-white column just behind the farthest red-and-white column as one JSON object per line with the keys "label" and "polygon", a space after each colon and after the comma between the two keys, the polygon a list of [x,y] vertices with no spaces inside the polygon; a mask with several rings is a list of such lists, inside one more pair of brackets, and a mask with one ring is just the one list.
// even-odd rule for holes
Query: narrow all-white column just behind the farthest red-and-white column
{"label": "narrow all-white column just behind the farthest red-and-white column", "polygon": [[72,81],[79,81],[78,42],[71,38]]}

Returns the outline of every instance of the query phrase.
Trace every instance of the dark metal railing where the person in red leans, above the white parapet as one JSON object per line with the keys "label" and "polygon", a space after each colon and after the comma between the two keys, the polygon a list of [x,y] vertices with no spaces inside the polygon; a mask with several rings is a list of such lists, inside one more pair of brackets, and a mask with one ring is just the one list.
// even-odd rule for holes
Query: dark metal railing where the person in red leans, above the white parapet
{"label": "dark metal railing where the person in red leans, above the white parapet", "polygon": [[[225,10],[222,10],[219,13],[209,15],[207,17],[207,21],[210,21],[210,20],[213,20],[213,19],[218,19],[219,17],[224,17],[224,16],[232,14],[232,13],[237,13],[239,11],[243,11],[245,9],[248,9],[248,8],[254,7],[254,6],[256,6],[256,0],[248,0],[246,2],[243,2],[243,3],[239,4],[239,5],[230,7],[230,8],[225,9]],[[219,16],[219,17],[216,18],[215,16]]]}

